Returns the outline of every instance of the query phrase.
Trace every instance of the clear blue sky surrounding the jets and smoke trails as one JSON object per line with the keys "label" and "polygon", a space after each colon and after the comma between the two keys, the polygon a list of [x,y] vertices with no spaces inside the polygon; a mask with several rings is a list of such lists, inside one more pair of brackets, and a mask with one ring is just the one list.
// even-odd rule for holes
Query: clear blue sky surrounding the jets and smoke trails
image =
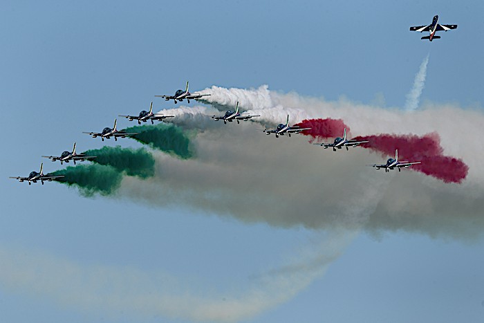
{"label": "clear blue sky surrounding the jets and smoke trails", "polygon": [[[8,176],[26,176],[41,161],[45,172],[61,168],[40,156],[74,141],[79,151],[102,147],[81,132],[111,127],[115,116],[148,109],[151,100],[154,110],[167,109],[172,102],[153,95],[174,93],[186,80],[192,91],[268,84],[403,107],[430,54],[422,102],[482,109],[483,14],[477,0],[3,2],[1,259],[168,273],[201,293],[240,290],[321,232],[241,223],[184,205],[88,199],[64,185],[29,187]],[[409,32],[434,15],[458,28],[432,42]],[[325,275],[249,322],[483,322],[483,246],[482,239],[361,232]],[[31,260],[32,270],[38,262]],[[0,320],[185,322],[62,302],[43,289],[0,282]]]}

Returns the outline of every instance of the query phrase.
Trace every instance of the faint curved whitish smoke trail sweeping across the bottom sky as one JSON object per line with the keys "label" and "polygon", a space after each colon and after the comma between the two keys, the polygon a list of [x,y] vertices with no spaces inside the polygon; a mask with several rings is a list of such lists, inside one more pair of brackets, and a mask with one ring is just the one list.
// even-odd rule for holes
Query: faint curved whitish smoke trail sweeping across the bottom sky
{"label": "faint curved whitish smoke trail sweeping across the bottom sky", "polygon": [[[194,282],[183,284],[165,273],[137,268],[81,266],[41,252],[0,248],[0,285],[15,292],[51,299],[77,310],[118,318],[237,322],[287,302],[321,277],[355,237],[333,232],[317,244],[299,250],[288,264],[250,279],[239,292],[197,293]],[[253,277],[253,276],[252,276]],[[211,286],[200,286],[212,290]]]}

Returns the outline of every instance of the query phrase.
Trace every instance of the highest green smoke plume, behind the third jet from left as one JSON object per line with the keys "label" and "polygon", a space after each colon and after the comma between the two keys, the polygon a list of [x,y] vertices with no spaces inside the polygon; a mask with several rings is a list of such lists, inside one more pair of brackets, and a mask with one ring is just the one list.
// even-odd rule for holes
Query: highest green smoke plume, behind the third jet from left
{"label": "highest green smoke plume, behind the third jet from left", "polygon": [[135,140],[148,144],[169,154],[187,159],[194,156],[187,133],[173,124],[156,124],[156,126],[136,126],[126,129],[127,132],[138,132],[131,136]]}

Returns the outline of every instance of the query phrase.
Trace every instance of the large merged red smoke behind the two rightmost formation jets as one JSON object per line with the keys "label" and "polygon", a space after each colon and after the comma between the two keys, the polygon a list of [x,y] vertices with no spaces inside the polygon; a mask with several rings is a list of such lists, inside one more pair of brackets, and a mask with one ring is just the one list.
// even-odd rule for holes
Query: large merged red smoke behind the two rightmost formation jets
{"label": "large merged red smoke behind the two rightmost formation jets", "polygon": [[451,156],[443,156],[440,147],[440,137],[437,133],[428,133],[419,137],[416,135],[397,136],[380,134],[375,136],[358,136],[356,140],[369,140],[361,147],[378,151],[387,156],[394,156],[398,149],[398,160],[421,161],[411,169],[434,176],[445,183],[462,183],[469,172],[463,160]]}

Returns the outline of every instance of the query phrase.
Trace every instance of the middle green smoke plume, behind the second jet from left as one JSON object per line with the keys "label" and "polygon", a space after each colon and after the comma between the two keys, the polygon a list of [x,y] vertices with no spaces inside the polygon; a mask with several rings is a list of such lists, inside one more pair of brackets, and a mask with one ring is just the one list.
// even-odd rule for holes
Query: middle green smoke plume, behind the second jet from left
{"label": "middle green smoke plume, behind the second jet from left", "polygon": [[129,176],[148,178],[155,174],[155,158],[144,148],[131,149],[120,146],[102,149],[91,149],[83,154],[96,156],[92,161],[100,165],[109,165],[118,170],[126,172]]}

